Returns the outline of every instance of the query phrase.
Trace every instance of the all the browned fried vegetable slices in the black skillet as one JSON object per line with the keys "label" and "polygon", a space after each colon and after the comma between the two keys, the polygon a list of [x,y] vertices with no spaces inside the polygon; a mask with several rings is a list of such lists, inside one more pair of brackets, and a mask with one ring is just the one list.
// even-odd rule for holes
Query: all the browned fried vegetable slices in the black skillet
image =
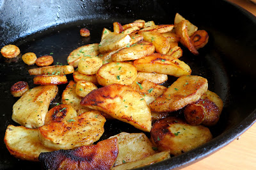
{"label": "all the browned fried vegetable slices in the black skillet", "polygon": [[[81,29],[81,35],[90,32]],[[207,79],[191,75],[178,46],[197,55],[207,42],[206,31],[177,13],[174,24],[114,22],[113,32],[103,29],[100,43],[73,50],[68,65],[50,66],[51,56],[39,61],[32,53],[22,56],[28,65],[37,60],[40,67],[29,74],[40,85],[29,89],[17,82],[11,88],[20,97],[12,114],[20,126],[7,127],[6,147],[14,157],[40,161],[45,169],[132,169],[207,143],[212,139],[207,127],[218,122],[223,102],[208,90]],[[3,56],[12,56],[15,49],[8,48],[1,50]],[[68,82],[71,73],[74,81]],[[160,84],[168,76],[177,80],[166,88]],[[58,84],[66,83],[61,104],[49,110]],[[184,116],[173,116],[175,111]],[[141,133],[122,132],[93,144],[111,119]]]}

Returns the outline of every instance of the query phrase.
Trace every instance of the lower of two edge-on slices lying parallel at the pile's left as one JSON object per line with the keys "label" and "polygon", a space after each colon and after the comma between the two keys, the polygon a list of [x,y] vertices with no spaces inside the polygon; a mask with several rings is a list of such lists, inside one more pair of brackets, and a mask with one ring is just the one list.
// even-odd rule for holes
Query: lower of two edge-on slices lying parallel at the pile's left
{"label": "lower of two edge-on slices lying parallel at the pile's left", "polygon": [[65,84],[68,82],[66,75],[36,75],[33,79],[34,84]]}

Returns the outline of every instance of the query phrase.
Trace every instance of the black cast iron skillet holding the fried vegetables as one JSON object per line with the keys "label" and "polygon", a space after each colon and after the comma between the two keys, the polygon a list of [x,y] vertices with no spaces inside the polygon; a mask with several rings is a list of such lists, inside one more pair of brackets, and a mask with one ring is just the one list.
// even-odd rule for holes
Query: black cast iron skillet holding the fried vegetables
{"label": "black cast iron skillet holding the fried vegetables", "polygon": [[[68,54],[81,45],[100,42],[103,27],[112,29],[113,22],[126,24],[136,19],[154,20],[156,24],[173,24],[175,13],[189,19],[199,29],[209,33],[209,43],[193,56],[186,48],[181,60],[191,66],[193,75],[209,81],[209,89],[224,102],[220,121],[211,132],[214,139],[195,150],[164,160],[143,169],[172,169],[193,164],[230,143],[256,120],[256,19],[227,1],[0,1],[0,47],[17,45],[21,53],[35,52],[37,56],[52,54],[54,64],[67,64]],[[79,36],[79,29],[87,27],[91,36]],[[33,77],[20,58],[6,60],[0,56],[1,155],[0,169],[38,169],[40,164],[13,158],[3,142],[4,132],[12,121],[12,105],[17,101],[10,95],[10,87],[17,81]],[[68,77],[72,79],[72,77]],[[165,84],[171,84],[175,78]],[[64,89],[66,85],[59,88]],[[56,97],[54,102],[58,102]],[[51,107],[54,104],[51,105]],[[107,121],[106,133],[140,132],[120,121]],[[147,134],[148,135],[148,134]]]}

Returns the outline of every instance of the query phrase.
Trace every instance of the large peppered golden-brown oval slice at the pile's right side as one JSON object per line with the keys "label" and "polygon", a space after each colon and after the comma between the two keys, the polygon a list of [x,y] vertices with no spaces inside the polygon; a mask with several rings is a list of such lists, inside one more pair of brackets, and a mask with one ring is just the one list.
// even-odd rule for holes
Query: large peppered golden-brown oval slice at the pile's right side
{"label": "large peppered golden-brown oval slice at the pile's right side", "polygon": [[194,103],[207,91],[207,79],[183,75],[149,106],[154,112],[173,112]]}

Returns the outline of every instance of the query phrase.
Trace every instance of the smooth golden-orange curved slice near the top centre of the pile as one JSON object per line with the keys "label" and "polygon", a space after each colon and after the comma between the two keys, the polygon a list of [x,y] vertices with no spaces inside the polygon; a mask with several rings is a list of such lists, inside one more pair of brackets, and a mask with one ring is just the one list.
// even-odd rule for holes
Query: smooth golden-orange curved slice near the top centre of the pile
{"label": "smooth golden-orange curved slice near the top centre of the pile", "polygon": [[143,40],[152,42],[156,47],[156,52],[160,54],[166,54],[170,50],[170,43],[167,38],[157,32],[143,31],[140,33],[143,35]]}

